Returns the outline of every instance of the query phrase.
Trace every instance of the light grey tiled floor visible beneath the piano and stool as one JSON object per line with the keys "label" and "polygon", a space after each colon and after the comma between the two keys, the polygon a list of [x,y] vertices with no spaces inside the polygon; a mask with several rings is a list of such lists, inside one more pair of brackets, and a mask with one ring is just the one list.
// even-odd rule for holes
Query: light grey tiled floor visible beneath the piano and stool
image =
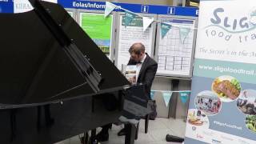
{"label": "light grey tiled floor visible beneath the piano and stool", "polygon": [[[186,122],[183,119],[173,118],[156,118],[150,121],[148,133],[144,133],[144,120],[140,121],[140,128],[138,132],[138,140],[135,144],[176,144],[177,142],[166,142],[166,134],[172,134],[184,138]],[[110,130],[110,140],[108,142],[101,142],[101,144],[122,144],[125,142],[125,137],[118,137],[118,131],[122,129],[121,126],[112,126]],[[100,130],[100,129],[98,129]],[[57,144],[57,143],[56,143]],[[80,144],[79,136],[66,139],[58,144]]]}

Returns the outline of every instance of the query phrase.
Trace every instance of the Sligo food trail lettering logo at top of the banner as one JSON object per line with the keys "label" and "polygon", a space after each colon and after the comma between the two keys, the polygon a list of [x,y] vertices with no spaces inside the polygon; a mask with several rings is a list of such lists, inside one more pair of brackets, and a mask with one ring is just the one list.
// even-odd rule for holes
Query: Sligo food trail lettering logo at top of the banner
{"label": "Sligo food trail lettering logo at top of the banner", "polygon": [[209,18],[210,25],[204,27],[208,38],[222,38],[226,42],[237,39],[238,42],[250,42],[256,39],[256,7],[242,18],[230,18],[222,7],[213,10]]}

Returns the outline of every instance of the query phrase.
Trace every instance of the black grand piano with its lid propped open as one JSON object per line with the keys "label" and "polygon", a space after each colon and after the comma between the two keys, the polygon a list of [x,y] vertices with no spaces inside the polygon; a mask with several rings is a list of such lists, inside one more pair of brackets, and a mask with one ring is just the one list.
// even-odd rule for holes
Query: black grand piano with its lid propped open
{"label": "black grand piano with its lid propped open", "polygon": [[0,143],[54,143],[118,122],[130,83],[62,6],[30,2],[0,14]]}

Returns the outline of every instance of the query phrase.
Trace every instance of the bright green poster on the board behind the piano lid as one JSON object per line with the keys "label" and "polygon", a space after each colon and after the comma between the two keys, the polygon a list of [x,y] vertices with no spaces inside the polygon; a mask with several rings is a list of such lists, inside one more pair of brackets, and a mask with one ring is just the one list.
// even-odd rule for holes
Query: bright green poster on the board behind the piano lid
{"label": "bright green poster on the board behind the piano lid", "polygon": [[80,26],[93,39],[106,56],[110,58],[113,15],[81,13]]}

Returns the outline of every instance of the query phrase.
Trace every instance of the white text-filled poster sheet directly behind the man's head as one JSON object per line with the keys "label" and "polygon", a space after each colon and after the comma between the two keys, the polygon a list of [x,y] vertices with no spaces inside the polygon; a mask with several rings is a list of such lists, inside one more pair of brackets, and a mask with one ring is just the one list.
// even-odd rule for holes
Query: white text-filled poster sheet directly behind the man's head
{"label": "white text-filled poster sheet directly behind the man's head", "polygon": [[142,42],[146,53],[151,56],[153,41],[153,26],[143,31],[142,17],[135,17],[128,26],[125,26],[125,16],[120,18],[119,38],[118,38],[118,69],[121,70],[122,64],[129,62],[129,49],[134,42]]}

